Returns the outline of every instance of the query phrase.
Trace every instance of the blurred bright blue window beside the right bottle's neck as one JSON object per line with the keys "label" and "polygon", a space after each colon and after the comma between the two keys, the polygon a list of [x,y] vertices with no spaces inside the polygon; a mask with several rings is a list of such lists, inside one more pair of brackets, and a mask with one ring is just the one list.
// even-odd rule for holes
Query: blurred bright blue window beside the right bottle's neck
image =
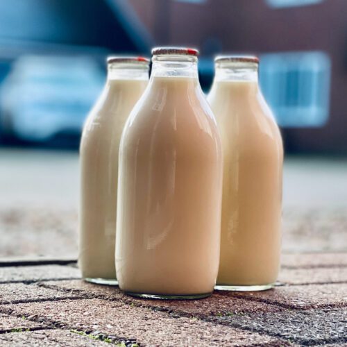
{"label": "blurred bright blue window beside the right bottle's neck", "polygon": [[325,53],[264,54],[260,85],[280,126],[323,126],[328,120],[330,58]]}

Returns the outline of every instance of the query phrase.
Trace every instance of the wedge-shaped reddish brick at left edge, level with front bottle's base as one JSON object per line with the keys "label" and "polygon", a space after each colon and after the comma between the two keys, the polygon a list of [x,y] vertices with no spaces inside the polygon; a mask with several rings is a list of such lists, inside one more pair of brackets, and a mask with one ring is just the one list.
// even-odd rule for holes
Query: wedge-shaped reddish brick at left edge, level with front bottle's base
{"label": "wedge-shaped reddish brick at left edge, level with front bottle's base", "polygon": [[4,283],[0,285],[0,304],[16,304],[25,301],[61,300],[62,298],[76,298],[74,293],[56,291],[35,284]]}

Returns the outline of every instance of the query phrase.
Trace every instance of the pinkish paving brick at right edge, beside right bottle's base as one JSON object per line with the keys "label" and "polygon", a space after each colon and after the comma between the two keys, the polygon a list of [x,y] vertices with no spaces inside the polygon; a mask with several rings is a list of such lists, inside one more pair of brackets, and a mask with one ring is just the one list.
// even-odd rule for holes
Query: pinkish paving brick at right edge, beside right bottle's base
{"label": "pinkish paving brick at right edge, beside right bottle's base", "polygon": [[347,266],[282,268],[278,281],[290,285],[310,285],[323,283],[347,283]]}

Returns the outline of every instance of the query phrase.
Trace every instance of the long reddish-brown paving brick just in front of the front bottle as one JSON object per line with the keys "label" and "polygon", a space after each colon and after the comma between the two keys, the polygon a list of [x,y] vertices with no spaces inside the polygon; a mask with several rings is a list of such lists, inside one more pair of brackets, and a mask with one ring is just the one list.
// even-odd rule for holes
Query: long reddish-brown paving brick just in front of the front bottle
{"label": "long reddish-brown paving brick just in front of the front bottle", "polygon": [[[3,310],[1,307],[1,310]],[[11,314],[35,314],[56,321],[59,328],[88,333],[102,332],[118,339],[134,339],[141,345],[158,346],[286,346],[276,337],[260,335],[196,318],[174,318],[166,312],[154,312],[115,301],[85,299],[42,303],[23,303],[10,308]]]}

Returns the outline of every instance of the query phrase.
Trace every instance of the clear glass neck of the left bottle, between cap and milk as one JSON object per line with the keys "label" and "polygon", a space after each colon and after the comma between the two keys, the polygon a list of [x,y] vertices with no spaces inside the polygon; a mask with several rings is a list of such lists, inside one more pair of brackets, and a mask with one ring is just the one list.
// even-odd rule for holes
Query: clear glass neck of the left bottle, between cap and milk
{"label": "clear glass neck of the left bottle, between cap and milk", "polygon": [[115,63],[108,65],[108,81],[149,79],[149,66],[137,63]]}

